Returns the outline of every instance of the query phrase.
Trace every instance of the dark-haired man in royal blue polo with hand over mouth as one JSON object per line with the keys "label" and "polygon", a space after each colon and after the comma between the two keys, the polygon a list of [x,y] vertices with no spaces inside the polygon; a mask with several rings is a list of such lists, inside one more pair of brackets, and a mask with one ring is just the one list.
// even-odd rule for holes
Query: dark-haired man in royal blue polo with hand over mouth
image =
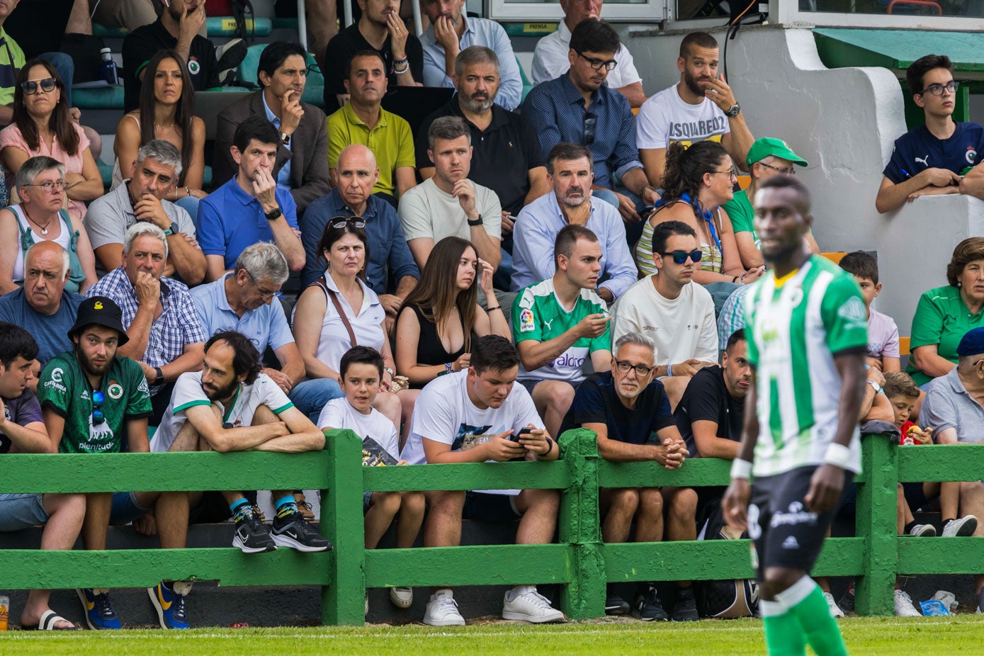
{"label": "dark-haired man in royal blue polo with hand over mouth", "polygon": [[277,128],[264,116],[251,116],[236,128],[229,152],[238,173],[202,199],[198,210],[198,243],[209,264],[207,280],[222,277],[243,249],[258,241],[277,244],[291,271],[304,267],[297,206],[274,177],[279,144]]}

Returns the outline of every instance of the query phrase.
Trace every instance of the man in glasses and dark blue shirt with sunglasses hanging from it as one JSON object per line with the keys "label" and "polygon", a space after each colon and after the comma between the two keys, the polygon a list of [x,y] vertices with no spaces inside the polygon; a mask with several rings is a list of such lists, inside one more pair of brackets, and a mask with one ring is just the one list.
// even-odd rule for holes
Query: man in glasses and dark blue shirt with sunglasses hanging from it
{"label": "man in glasses and dark blue shirt with sunglasses hanging from it", "polygon": [[[591,149],[594,195],[617,207],[633,224],[629,239],[634,243],[643,231],[639,209],[653,205],[659,196],[646,180],[629,102],[605,85],[621,49],[622,41],[611,26],[584,19],[571,33],[570,70],[529,91],[523,118],[539,137],[543,152],[564,142]],[[617,189],[616,177],[621,183]]]}

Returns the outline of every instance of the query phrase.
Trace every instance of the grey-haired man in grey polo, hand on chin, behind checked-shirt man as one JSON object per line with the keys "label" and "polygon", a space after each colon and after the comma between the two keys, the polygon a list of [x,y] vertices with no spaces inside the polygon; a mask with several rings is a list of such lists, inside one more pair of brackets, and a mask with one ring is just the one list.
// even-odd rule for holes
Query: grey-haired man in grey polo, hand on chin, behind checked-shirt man
{"label": "grey-haired man in grey polo, hand on chin, behind checked-shirt man", "polygon": [[164,275],[189,286],[205,279],[205,254],[195,239],[195,222],[188,212],[167,200],[181,175],[181,153],[170,142],[154,139],[137,151],[129,180],[92,201],[86,232],[100,276],[123,264],[123,238],[138,221],[154,223],[167,235]]}

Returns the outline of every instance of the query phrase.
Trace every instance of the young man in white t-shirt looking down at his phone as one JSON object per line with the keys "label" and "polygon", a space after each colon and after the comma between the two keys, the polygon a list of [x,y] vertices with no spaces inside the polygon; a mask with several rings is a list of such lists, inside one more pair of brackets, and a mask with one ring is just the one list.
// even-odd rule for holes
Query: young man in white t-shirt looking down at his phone
{"label": "young man in white t-shirt looking down at his phone", "polygon": [[[499,335],[486,335],[471,344],[471,366],[466,371],[435,379],[417,397],[403,458],[410,464],[556,460],[560,447],[543,429],[529,392],[516,385],[520,370],[516,347]],[[460,545],[462,515],[479,521],[522,517],[519,544],[553,540],[560,505],[557,490],[424,494],[430,507],[424,546]],[[425,625],[464,625],[451,588],[437,586],[431,593]],[[535,585],[517,585],[506,593],[502,617],[538,624],[562,621],[564,614],[551,608]]]}

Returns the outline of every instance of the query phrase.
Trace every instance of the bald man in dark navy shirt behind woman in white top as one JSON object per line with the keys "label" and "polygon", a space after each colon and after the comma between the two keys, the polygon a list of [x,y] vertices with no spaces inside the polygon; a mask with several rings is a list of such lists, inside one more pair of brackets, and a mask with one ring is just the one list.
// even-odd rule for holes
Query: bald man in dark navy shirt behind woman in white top
{"label": "bald man in dark navy shirt behind woman in white top", "polygon": [[[379,167],[372,150],[362,144],[352,144],[338,153],[338,185],[332,193],[312,203],[300,219],[301,242],[305,262],[301,285],[306,287],[325,274],[325,261],[318,252],[318,242],[329,224],[340,225],[353,218],[357,227],[366,231],[369,261],[365,282],[379,296],[386,310],[387,322],[397,319],[403,298],[417,284],[420,269],[406,245],[397,210],[372,190],[379,178]],[[362,223],[362,225],[359,225]],[[396,287],[390,288],[392,277]],[[387,293],[387,292],[393,293]]]}

